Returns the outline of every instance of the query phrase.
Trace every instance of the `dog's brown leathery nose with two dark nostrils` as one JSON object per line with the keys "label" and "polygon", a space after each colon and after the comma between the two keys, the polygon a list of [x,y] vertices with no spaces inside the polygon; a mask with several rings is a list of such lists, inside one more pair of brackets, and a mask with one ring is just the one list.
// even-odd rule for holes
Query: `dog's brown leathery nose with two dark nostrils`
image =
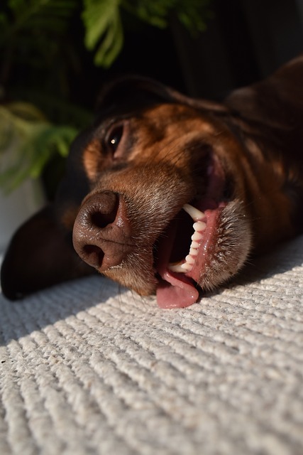
{"label": "dog's brown leathery nose with two dark nostrils", "polygon": [[99,272],[121,264],[132,250],[123,196],[112,192],[90,196],[79,210],[72,241],[79,257]]}

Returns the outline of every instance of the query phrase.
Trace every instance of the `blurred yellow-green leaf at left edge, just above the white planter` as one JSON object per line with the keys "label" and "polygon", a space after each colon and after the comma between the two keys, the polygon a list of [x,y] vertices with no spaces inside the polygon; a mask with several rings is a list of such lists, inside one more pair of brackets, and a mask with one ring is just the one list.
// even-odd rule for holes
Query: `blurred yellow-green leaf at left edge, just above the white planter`
{"label": "blurred yellow-green leaf at left edge, just above the white planter", "polygon": [[27,103],[0,106],[0,186],[8,193],[40,176],[51,156],[67,156],[77,130],[47,122]]}

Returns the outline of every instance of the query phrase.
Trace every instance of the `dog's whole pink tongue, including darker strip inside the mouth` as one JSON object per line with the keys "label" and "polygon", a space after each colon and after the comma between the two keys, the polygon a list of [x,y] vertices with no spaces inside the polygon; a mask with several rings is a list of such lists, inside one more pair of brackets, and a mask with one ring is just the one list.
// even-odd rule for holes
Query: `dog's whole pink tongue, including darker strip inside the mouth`
{"label": "dog's whole pink tongue, including darker strip inside the mouth", "polygon": [[192,279],[184,274],[171,272],[167,268],[176,228],[176,222],[173,221],[159,248],[160,257],[157,269],[162,280],[157,288],[157,302],[160,308],[184,308],[184,306],[194,304],[199,297],[199,291],[194,287]]}

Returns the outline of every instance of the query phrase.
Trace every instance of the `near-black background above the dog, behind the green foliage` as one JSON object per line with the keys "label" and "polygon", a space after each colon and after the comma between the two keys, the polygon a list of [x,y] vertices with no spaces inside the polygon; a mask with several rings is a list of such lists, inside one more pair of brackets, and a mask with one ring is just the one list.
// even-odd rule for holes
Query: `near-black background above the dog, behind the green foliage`
{"label": "near-black background above the dog, behind the green foliage", "polygon": [[33,41],[26,46],[26,35],[19,37],[9,71],[0,65],[0,85],[9,99],[33,102],[60,124],[67,119],[60,119],[60,109],[53,115],[43,97],[91,112],[104,82],[127,73],[154,77],[193,97],[221,99],[303,51],[303,0],[212,0],[210,10],[206,31],[196,38],[173,17],[164,30],[124,17],[123,50],[106,70],[94,65],[94,53],[85,48],[81,11],[75,11],[53,58],[50,48],[56,43],[49,41],[37,56]]}

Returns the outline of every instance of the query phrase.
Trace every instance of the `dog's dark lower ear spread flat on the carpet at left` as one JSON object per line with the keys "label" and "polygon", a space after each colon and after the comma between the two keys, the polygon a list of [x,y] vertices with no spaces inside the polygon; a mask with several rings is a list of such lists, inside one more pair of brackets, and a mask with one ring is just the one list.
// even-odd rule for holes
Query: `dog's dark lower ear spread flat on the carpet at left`
{"label": "dog's dark lower ear spread flat on the carpet at left", "polygon": [[11,300],[94,272],[79,259],[70,236],[43,208],[17,230],[1,267],[1,289]]}

